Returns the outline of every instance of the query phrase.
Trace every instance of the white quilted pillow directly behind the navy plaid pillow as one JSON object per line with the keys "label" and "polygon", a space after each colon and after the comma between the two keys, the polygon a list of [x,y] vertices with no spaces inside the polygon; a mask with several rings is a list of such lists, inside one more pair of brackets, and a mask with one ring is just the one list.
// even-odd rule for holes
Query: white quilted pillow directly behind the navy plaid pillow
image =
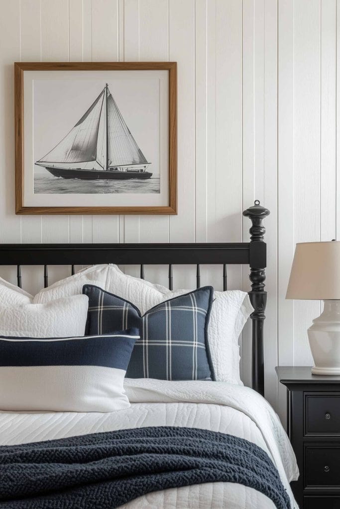
{"label": "white quilted pillow directly behind the navy plaid pillow", "polygon": [[[84,285],[96,285],[114,293],[133,304],[144,314],[163,300],[188,293],[189,290],[175,290],[124,274],[116,265],[96,265],[77,272],[41,290],[34,302],[48,302],[62,295],[82,293]],[[242,385],[240,379],[239,336],[252,313],[249,296],[240,290],[215,292],[208,341],[217,381]]]}

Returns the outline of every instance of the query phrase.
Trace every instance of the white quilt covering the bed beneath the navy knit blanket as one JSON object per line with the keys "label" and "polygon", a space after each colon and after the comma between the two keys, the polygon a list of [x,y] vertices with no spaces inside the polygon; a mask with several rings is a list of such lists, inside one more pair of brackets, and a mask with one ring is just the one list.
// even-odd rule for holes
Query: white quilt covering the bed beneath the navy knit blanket
{"label": "white quilt covering the bed beneath the navy knit blanket", "polygon": [[[229,433],[262,447],[298,509],[289,483],[299,472],[278,416],[248,387],[223,382],[125,380],[132,406],[112,413],[0,413],[0,444],[145,426],[185,426]],[[265,495],[232,483],[206,483],[150,493],[124,509],[274,509]]]}

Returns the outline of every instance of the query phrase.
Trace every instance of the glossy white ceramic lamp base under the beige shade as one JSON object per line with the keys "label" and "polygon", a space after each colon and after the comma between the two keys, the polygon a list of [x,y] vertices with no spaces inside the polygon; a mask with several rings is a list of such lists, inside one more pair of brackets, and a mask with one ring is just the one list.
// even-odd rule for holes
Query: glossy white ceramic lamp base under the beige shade
{"label": "glossy white ceramic lamp base under the beige shade", "polygon": [[340,375],[340,300],[325,300],[320,317],[308,329],[314,375]]}

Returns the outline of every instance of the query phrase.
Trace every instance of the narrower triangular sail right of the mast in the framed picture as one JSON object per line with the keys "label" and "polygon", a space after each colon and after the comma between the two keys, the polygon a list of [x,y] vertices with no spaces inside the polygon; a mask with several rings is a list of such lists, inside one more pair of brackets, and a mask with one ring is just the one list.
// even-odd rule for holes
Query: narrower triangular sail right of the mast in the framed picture
{"label": "narrower triangular sail right of the mast in the framed picture", "polygon": [[111,93],[108,96],[108,141],[110,166],[147,163]]}

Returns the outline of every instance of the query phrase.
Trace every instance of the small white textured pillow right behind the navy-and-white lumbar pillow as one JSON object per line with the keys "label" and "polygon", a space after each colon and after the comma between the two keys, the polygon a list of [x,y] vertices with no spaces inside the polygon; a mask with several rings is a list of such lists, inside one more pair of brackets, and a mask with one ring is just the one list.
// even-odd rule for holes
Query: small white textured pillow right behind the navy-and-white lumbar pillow
{"label": "small white textured pillow right behind the navy-and-white lumbar pillow", "polygon": [[45,304],[0,303],[0,335],[30,337],[83,336],[88,297],[73,295]]}

